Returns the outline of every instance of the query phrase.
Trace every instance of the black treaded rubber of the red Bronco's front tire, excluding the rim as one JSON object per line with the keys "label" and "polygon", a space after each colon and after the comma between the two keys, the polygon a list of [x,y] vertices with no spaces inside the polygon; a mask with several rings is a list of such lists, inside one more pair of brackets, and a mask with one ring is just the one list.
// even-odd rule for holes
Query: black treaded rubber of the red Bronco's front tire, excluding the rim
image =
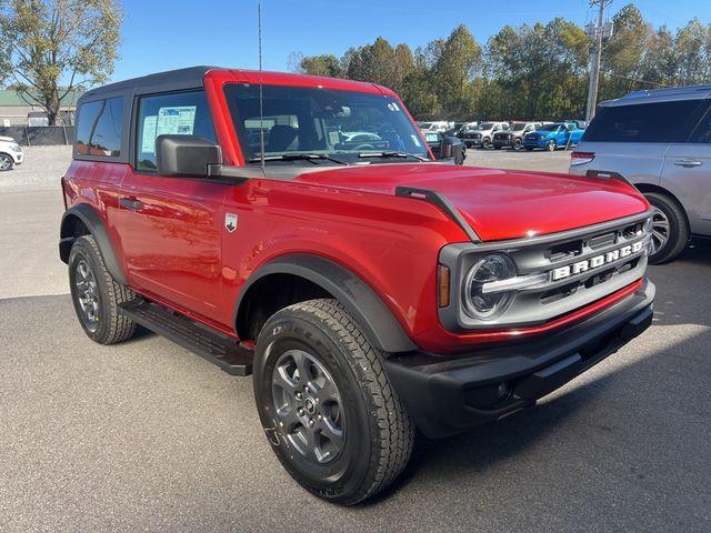
{"label": "black treaded rubber of the red Bronco's front tire, excluding the rim", "polygon": [[[290,445],[293,430],[274,406],[274,398],[282,398],[274,385],[274,368],[288,353],[300,351],[328,371],[343,408],[342,446],[324,465]],[[370,345],[336,300],[290,305],[272,315],[259,335],[254,399],[262,426],[284,469],[319,497],[343,505],[359,503],[388,486],[410,459],[414,428],[388,381],[382,360],[383,353]],[[300,378],[297,383],[301,384]],[[283,403],[279,409],[283,412]],[[301,431],[299,423],[292,428]]]}

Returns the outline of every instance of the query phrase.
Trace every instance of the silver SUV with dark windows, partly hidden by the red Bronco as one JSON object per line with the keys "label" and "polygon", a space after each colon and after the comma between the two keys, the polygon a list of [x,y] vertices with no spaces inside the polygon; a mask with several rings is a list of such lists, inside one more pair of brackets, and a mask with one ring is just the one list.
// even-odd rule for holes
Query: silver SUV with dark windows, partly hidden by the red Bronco
{"label": "silver SUV with dark windows, partly hidden by the red Bronco", "polygon": [[654,208],[651,263],[711,237],[711,86],[632,92],[602,102],[570,172],[625,179]]}

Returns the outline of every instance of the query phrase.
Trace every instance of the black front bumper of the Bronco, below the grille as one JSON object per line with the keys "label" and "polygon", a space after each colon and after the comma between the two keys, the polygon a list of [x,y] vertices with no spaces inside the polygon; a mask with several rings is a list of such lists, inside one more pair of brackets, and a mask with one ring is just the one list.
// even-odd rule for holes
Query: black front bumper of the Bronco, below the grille
{"label": "black front bumper of the Bronco, below the grille", "polygon": [[618,351],[652,323],[654,285],[597,315],[525,343],[441,356],[403,354],[385,371],[420,430],[448,436],[498,420],[535,401]]}

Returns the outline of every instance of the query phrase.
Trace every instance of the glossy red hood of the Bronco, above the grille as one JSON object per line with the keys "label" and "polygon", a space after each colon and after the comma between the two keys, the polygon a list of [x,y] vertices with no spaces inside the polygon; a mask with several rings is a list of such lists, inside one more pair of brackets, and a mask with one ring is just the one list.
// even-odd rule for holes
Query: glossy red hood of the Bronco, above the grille
{"label": "glossy red hood of the Bronco, above the grille", "polygon": [[634,188],[618,180],[437,163],[338,168],[297,181],[382,194],[394,194],[399,185],[431,189],[484,241],[555,233],[649,209]]}

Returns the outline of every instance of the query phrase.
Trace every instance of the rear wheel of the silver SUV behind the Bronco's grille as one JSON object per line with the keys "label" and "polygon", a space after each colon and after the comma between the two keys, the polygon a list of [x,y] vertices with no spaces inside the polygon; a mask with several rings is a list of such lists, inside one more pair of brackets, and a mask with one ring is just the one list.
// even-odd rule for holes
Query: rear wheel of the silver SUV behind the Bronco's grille
{"label": "rear wheel of the silver SUV behind the Bronco's grille", "polygon": [[689,222],[681,207],[671,198],[659,192],[648,192],[644,198],[652,204],[652,249],[651,264],[671,261],[689,242]]}

